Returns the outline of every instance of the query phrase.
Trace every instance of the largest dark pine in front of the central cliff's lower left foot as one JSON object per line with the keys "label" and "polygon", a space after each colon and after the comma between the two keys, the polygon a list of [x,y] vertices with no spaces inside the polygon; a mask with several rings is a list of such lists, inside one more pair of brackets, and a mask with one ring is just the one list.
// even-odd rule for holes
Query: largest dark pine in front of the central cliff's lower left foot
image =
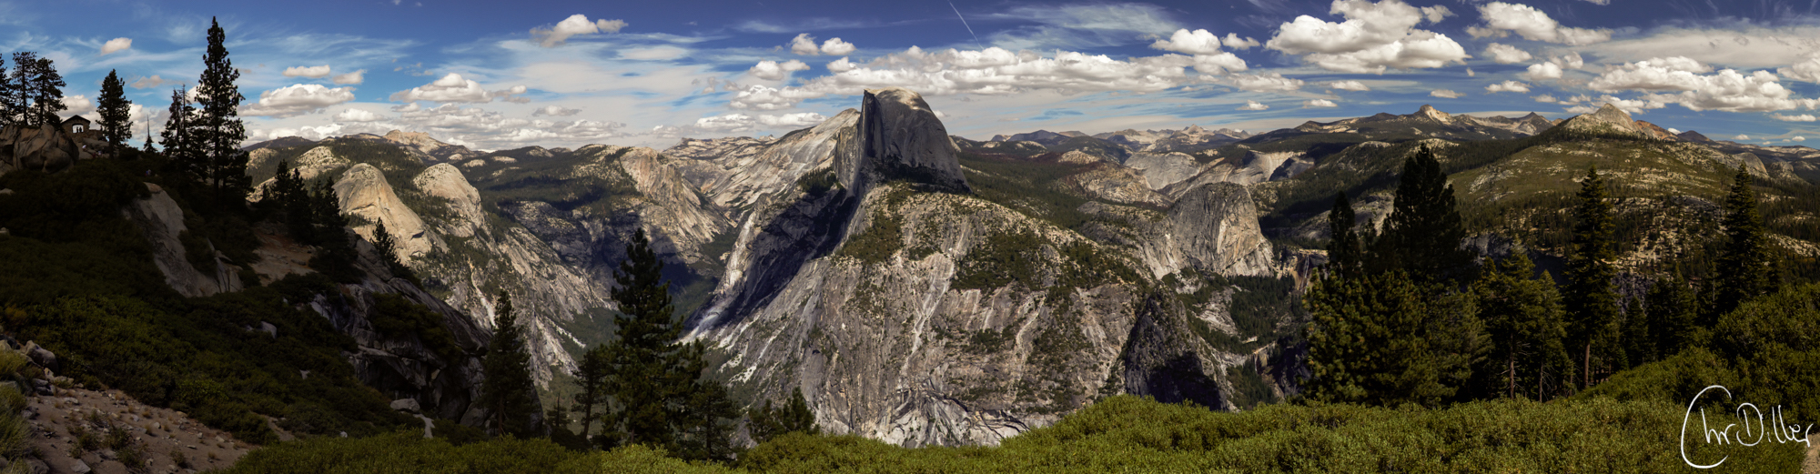
{"label": "largest dark pine in front of the central cliff's lower left foot", "polygon": [[737,416],[726,388],[703,381],[704,348],[679,343],[670,284],[644,230],[626,244],[626,261],[615,272],[621,288],[619,335],[608,354],[604,392],[615,401],[601,417],[601,447],[652,445],[682,458],[732,456],[732,419]]}

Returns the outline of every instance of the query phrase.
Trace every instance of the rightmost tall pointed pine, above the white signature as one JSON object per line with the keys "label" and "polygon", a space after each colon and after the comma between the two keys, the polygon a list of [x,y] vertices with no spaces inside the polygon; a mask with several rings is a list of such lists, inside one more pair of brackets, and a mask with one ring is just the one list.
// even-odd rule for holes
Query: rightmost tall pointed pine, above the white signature
{"label": "rightmost tall pointed pine, above the white signature", "polygon": [[1731,182],[1731,195],[1725,197],[1725,253],[1718,259],[1716,304],[1709,321],[1729,314],[1745,301],[1773,294],[1776,273],[1769,255],[1769,239],[1764,235],[1764,219],[1756,211],[1756,191],[1751,190],[1751,173],[1738,166]]}

